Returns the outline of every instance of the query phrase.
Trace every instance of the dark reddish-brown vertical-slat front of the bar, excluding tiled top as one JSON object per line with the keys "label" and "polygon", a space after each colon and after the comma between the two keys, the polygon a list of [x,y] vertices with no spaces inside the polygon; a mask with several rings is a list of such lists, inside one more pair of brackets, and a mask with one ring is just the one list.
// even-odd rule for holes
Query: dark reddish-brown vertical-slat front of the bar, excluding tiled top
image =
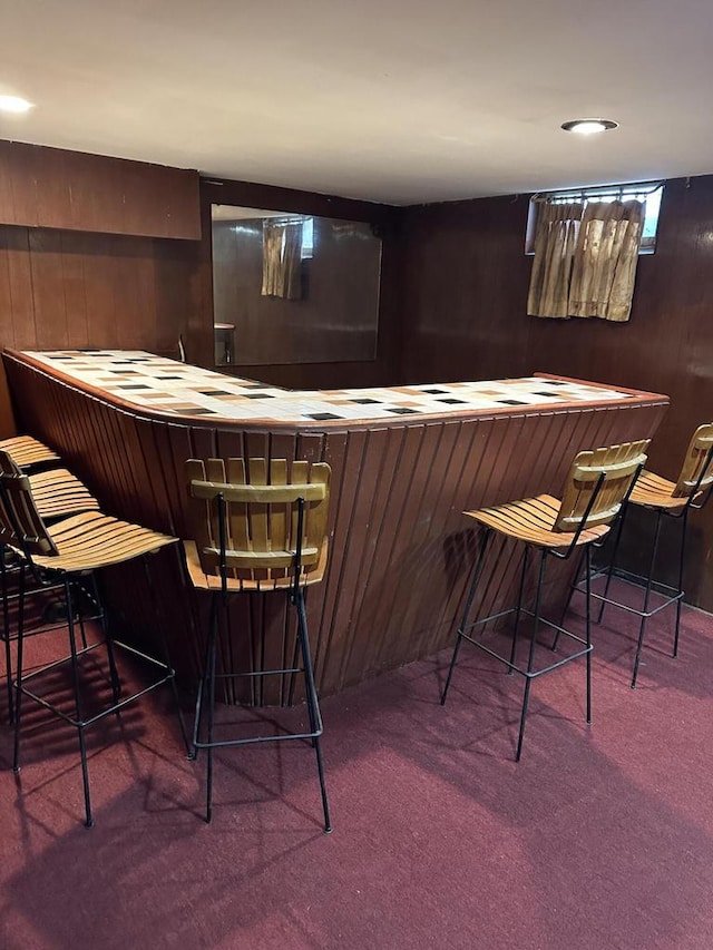
{"label": "dark reddish-brown vertical-slat front of the bar, excluding tiled top", "polygon": [[[645,438],[664,405],[577,407],[505,412],[427,424],[325,432],[252,430],[240,422],[159,421],[91,398],[12,358],[13,389],[23,393],[30,431],[67,451],[115,513],[140,513],[147,527],[180,530],[188,506],[184,463],[192,457],[326,461],[332,468],[330,558],[323,584],[309,590],[307,611],[320,688],[333,693],[381,669],[447,646],[462,608],[476,533],[461,512],[541,491],[558,493],[579,449]],[[49,411],[48,411],[49,408]],[[51,438],[50,438],[51,437]],[[120,460],[124,453],[126,463]],[[157,592],[184,674],[194,670],[205,636],[206,600],[191,595],[178,561],[162,560]],[[495,547],[484,576],[484,609],[512,594],[520,558]],[[548,603],[565,579],[554,574]],[[110,579],[127,623],[144,603],[126,597],[133,576]],[[121,597],[121,595],[124,596]],[[134,617],[131,610],[136,609]],[[286,597],[238,597],[231,630],[222,631],[226,669],[274,668],[290,662],[294,619]],[[250,691],[250,686],[246,687]],[[236,687],[234,696],[247,696]],[[252,698],[284,702],[283,683],[265,683]]]}

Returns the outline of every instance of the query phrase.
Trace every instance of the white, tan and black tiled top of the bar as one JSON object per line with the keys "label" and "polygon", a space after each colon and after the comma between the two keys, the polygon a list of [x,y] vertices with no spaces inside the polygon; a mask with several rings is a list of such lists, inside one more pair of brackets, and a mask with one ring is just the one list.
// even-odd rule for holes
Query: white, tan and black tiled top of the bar
{"label": "white, tan and black tiled top of the bar", "polygon": [[447,413],[637,401],[653,395],[546,375],[487,382],[293,391],[140,351],[26,351],[25,355],[53,372],[137,407],[180,417],[251,422],[299,424],[399,417],[420,419]]}

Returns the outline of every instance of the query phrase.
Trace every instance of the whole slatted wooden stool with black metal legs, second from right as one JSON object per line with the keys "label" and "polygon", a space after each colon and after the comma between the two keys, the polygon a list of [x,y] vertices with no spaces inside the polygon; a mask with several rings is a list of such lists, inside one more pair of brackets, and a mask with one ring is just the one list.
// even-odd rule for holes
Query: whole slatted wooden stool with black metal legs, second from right
{"label": "whole slatted wooden stool with black metal legs, second from right", "polygon": [[[611,526],[619,512],[623,501],[631,491],[636,476],[644,467],[646,456],[644,451],[648,441],[627,442],[622,445],[596,449],[594,451],[579,452],[574,459],[561,501],[550,494],[539,494],[535,498],[526,498],[521,501],[512,501],[496,508],[484,508],[479,511],[466,511],[470,518],[475,518],[485,528],[480,554],[466,600],[460,627],[457,631],[456,646],[448,670],[448,678],[441,695],[441,705],[450,688],[453,670],[458,663],[458,654],[463,640],[468,640],[490,656],[499,659],[508,667],[509,673],[519,673],[525,677],[525,694],[520,712],[520,728],[517,741],[516,761],[519,762],[522,753],[522,738],[525,735],[525,723],[529,704],[530,686],[533,680],[550,673],[573,659],[586,656],[586,689],[587,689],[587,723],[592,722],[592,638],[590,638],[590,610],[589,587],[587,585],[587,609],[585,621],[585,637],[580,637],[564,627],[546,620],[541,616],[541,595],[545,582],[545,568],[547,558],[567,560],[577,550],[584,550],[587,566],[590,566],[590,551],[595,543],[600,543],[608,533]],[[478,580],[482,571],[488,541],[492,533],[505,538],[521,541],[525,545],[525,557],[522,559],[522,571],[520,576],[518,603],[516,607],[482,617],[469,623],[472,604],[478,587]],[[539,554],[539,572],[534,610],[525,609],[522,595],[530,551]],[[589,572],[587,572],[587,578]],[[510,640],[509,656],[504,656],[495,649],[486,646],[467,633],[473,628],[515,614],[515,624]],[[527,666],[524,668],[516,663],[517,635],[520,617],[531,617],[534,623],[529,637],[529,650]],[[550,627],[557,631],[557,637],[564,635],[575,643],[575,652],[566,657],[549,663],[544,667],[535,668],[535,647],[540,625]],[[556,648],[556,640],[551,649]]]}

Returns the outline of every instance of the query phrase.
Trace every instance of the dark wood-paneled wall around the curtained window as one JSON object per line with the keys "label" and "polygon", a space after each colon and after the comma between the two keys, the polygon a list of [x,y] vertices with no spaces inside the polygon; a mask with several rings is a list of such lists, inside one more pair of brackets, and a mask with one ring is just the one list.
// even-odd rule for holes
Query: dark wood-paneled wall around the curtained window
{"label": "dark wood-paneled wall around the curtained window", "polygon": [[[409,208],[402,222],[402,371],[409,382],[545,371],[663,392],[649,452],[675,477],[691,431],[713,419],[713,176],[668,182],[656,253],[641,256],[628,323],[526,313],[527,197]],[[636,533],[636,558],[644,536]],[[674,551],[665,546],[673,560]],[[713,609],[713,505],[693,519],[688,599]]]}

